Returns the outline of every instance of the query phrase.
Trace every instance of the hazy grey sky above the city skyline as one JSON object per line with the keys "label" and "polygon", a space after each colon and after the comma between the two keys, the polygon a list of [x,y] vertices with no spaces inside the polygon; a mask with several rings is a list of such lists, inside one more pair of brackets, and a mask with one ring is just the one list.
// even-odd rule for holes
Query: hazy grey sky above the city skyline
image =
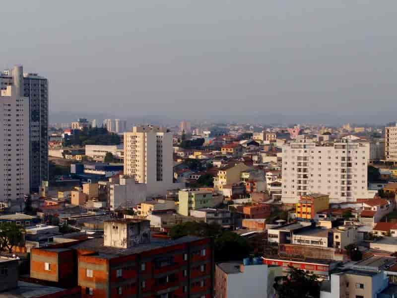
{"label": "hazy grey sky above the city skyline", "polygon": [[395,0],[0,6],[0,68],[47,76],[55,114],[397,118]]}

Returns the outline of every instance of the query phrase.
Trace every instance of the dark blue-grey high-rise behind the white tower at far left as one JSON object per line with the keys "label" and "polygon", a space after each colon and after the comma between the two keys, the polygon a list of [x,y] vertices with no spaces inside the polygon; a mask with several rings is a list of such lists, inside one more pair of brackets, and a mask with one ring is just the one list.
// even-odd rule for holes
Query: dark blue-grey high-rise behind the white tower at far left
{"label": "dark blue-grey high-rise behind the white tower at far left", "polygon": [[22,96],[28,97],[30,190],[37,191],[41,181],[48,180],[48,79],[34,73],[24,73],[22,66],[0,73],[0,86],[12,85],[14,72],[22,74]]}

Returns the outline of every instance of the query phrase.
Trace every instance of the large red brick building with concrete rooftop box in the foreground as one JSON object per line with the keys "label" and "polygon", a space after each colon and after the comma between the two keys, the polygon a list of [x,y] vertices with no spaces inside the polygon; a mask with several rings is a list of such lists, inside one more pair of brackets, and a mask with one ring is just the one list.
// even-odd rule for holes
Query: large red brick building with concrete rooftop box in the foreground
{"label": "large red brick building with concrete rooftop box in the foreground", "polygon": [[[214,255],[211,239],[195,236],[175,240],[150,237],[136,220],[106,221],[104,225],[106,243],[114,241],[120,245],[126,239],[131,245],[127,248],[104,246],[103,238],[91,238],[58,245],[68,245],[67,248],[33,249],[32,277],[55,281],[56,276],[58,280],[64,276],[76,276],[83,298],[213,297]],[[67,259],[69,264],[77,264],[76,267],[71,266],[73,274],[62,266],[66,259],[59,262],[59,255],[58,259],[54,256],[57,250],[60,250],[58,253],[75,252],[74,260]],[[51,258],[45,258],[46,255]],[[48,271],[47,263],[50,263],[50,272],[54,269],[54,273],[43,275]]]}

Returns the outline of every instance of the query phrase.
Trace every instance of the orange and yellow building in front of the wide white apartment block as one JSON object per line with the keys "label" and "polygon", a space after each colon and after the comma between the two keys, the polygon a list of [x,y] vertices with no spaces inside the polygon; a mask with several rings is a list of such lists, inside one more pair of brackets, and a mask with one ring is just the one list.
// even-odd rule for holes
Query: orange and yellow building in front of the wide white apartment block
{"label": "orange and yellow building in front of the wide white apartment block", "polygon": [[306,220],[315,219],[317,212],[330,208],[330,197],[322,194],[301,196],[296,204],[296,217]]}

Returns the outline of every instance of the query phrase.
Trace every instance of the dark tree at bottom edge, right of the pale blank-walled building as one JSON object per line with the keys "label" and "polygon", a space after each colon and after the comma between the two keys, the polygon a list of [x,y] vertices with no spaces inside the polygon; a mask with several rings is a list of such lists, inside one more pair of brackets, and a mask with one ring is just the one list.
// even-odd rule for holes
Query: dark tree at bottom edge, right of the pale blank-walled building
{"label": "dark tree at bottom edge, right of the pale blank-walled building", "polygon": [[320,283],[316,275],[308,275],[303,270],[289,266],[286,276],[276,277],[273,288],[279,298],[318,298]]}

